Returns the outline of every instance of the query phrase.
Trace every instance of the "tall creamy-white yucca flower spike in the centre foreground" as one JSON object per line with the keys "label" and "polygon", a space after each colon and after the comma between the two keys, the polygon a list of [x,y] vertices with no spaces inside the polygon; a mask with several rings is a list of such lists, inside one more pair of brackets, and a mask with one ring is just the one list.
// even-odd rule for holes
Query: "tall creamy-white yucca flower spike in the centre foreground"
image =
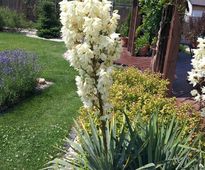
{"label": "tall creamy-white yucca flower spike in the centre foreground", "polygon": [[62,36],[68,48],[65,55],[79,72],[78,95],[85,107],[97,106],[106,112],[112,65],[121,51],[115,33],[119,15],[111,12],[108,0],[63,0],[60,8]]}

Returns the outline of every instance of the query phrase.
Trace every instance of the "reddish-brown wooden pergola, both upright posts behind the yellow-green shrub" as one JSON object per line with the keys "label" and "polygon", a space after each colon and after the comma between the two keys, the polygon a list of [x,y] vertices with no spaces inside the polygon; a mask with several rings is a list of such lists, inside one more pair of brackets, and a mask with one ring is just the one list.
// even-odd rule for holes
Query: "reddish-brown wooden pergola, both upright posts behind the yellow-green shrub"
{"label": "reddish-brown wooden pergola, both upright posts behind the yellow-green shrub", "polygon": [[[173,5],[167,5],[163,9],[158,34],[157,51],[156,55],[152,59],[152,71],[161,73],[164,79],[169,79],[170,92],[174,81],[176,61],[182,32],[183,15],[179,12],[178,7],[180,5],[186,6],[186,0],[173,0],[173,2]],[[136,29],[139,24],[139,2],[138,0],[133,0],[127,47],[132,56],[135,53],[134,42],[136,37]]]}

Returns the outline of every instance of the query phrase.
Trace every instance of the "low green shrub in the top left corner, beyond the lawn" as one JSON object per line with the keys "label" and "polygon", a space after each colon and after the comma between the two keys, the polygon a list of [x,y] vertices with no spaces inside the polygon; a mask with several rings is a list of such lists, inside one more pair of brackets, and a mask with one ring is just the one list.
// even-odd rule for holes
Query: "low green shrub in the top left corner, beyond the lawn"
{"label": "low green shrub in the top left corner, beyond the lawn", "polygon": [[0,7],[0,18],[4,27],[10,29],[28,28],[31,26],[22,13],[10,10],[9,8]]}

